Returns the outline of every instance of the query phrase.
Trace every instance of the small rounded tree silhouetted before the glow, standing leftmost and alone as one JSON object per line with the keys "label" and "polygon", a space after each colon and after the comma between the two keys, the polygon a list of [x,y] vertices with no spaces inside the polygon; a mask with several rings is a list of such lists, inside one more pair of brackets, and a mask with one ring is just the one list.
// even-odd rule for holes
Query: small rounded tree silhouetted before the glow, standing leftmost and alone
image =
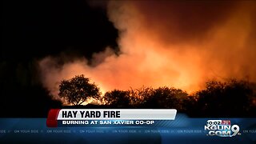
{"label": "small rounded tree silhouetted before the glow, standing leftmost and alone", "polygon": [[90,79],[82,74],[69,80],[62,80],[58,95],[73,105],[81,105],[88,98],[99,98],[101,93],[98,86],[90,83]]}

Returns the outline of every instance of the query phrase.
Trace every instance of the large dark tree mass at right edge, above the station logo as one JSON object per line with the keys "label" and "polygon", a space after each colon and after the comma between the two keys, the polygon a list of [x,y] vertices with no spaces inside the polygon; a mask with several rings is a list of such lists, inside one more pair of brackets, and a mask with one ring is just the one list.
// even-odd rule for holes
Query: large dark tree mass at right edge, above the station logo
{"label": "large dark tree mass at right edge, above the station logo", "polygon": [[254,115],[254,83],[230,80],[228,82],[206,82],[206,89],[196,94],[195,116],[241,117]]}

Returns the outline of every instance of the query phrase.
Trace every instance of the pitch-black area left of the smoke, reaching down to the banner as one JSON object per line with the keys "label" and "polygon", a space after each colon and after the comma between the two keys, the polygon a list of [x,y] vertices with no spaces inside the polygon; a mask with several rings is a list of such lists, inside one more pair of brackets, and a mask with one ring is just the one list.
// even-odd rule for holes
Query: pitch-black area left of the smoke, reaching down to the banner
{"label": "pitch-black area left of the smoke, reaching down to the banner", "polygon": [[[59,106],[39,81],[39,59],[63,54],[71,61],[90,58],[106,46],[118,50],[118,30],[106,9],[92,8],[85,0],[5,0],[2,8],[2,117],[42,117],[50,107]],[[11,114],[14,109],[17,114]]]}

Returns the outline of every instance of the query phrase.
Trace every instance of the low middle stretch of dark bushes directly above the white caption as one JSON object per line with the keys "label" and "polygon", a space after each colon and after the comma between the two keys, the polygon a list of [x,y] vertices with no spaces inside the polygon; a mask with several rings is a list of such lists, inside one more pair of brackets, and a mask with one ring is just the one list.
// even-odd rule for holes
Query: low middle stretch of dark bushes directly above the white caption
{"label": "low middle stretch of dark bushes directly above the white caption", "polygon": [[174,87],[142,87],[140,89],[113,90],[103,96],[107,105],[114,108],[177,109],[187,111],[198,100],[186,91]]}

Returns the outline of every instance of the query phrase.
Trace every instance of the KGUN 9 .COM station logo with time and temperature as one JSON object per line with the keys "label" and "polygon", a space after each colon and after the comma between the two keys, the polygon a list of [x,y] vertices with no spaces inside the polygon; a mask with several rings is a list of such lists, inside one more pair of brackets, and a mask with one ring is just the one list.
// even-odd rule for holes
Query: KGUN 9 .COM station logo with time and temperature
{"label": "KGUN 9 .COM station logo with time and temperature", "polygon": [[205,130],[209,130],[207,135],[219,137],[234,137],[240,128],[238,125],[231,126],[230,120],[208,120]]}

